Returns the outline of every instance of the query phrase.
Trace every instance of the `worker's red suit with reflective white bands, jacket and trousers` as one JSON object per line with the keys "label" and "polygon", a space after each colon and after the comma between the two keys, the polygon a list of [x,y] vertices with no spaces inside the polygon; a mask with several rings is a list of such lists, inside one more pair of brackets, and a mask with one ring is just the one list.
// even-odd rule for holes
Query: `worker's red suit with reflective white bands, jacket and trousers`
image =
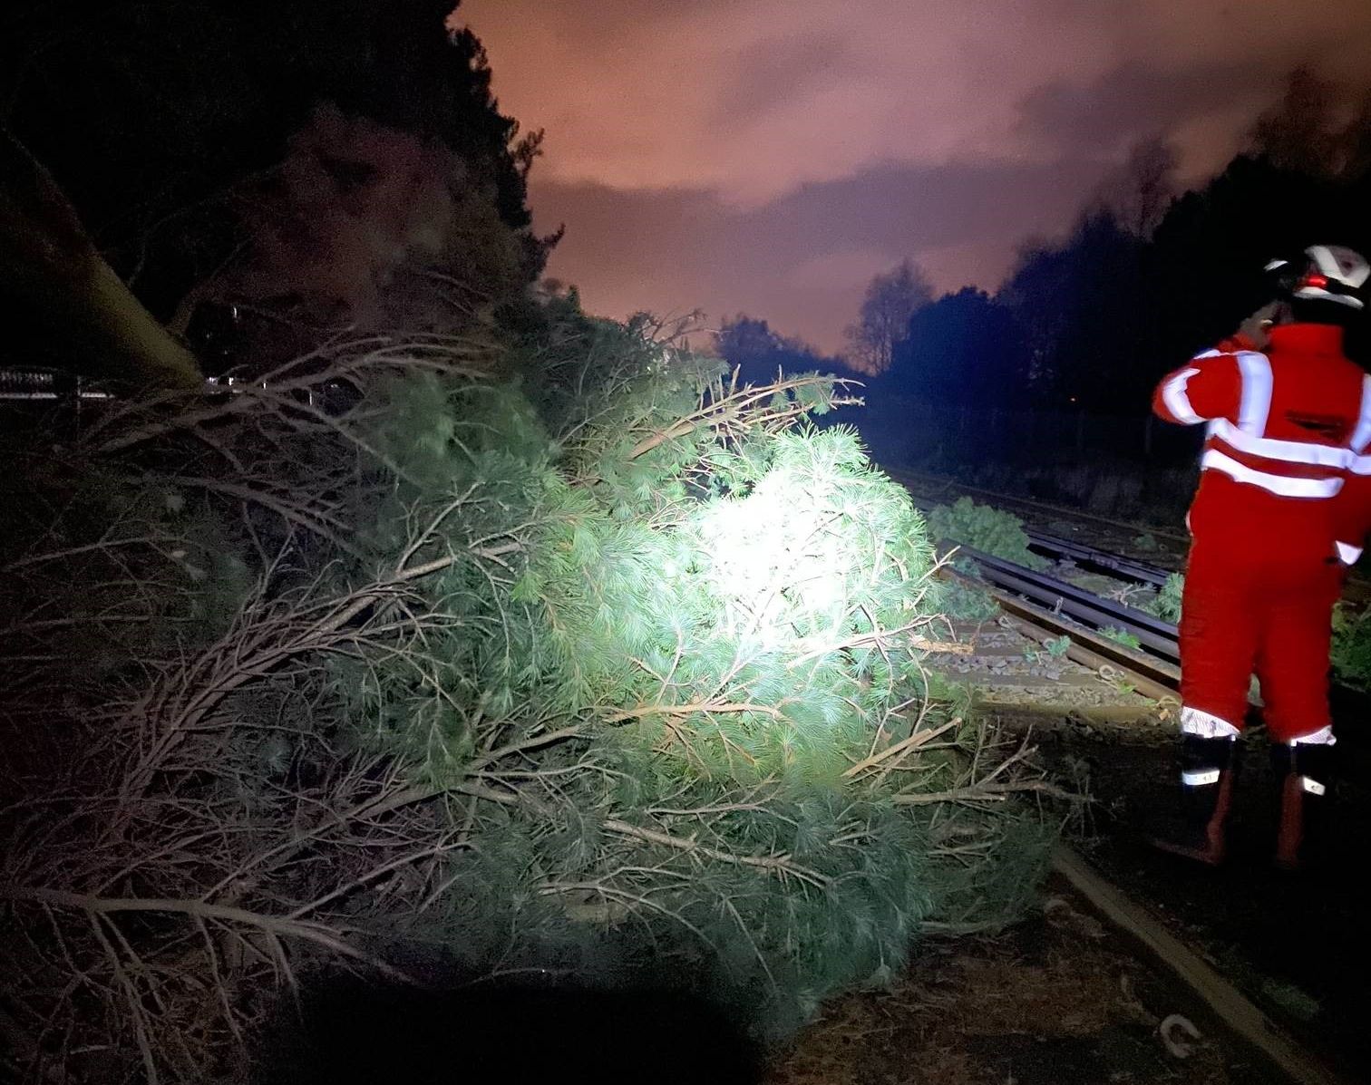
{"label": "worker's red suit with reflective white bands, jacket and trousers", "polygon": [[[1261,682],[1278,743],[1331,743],[1328,647],[1344,570],[1371,526],[1371,377],[1342,330],[1293,323],[1169,374],[1168,422],[1208,423],[1180,619],[1180,730],[1242,730]],[[1198,781],[1197,781],[1198,782]]]}

